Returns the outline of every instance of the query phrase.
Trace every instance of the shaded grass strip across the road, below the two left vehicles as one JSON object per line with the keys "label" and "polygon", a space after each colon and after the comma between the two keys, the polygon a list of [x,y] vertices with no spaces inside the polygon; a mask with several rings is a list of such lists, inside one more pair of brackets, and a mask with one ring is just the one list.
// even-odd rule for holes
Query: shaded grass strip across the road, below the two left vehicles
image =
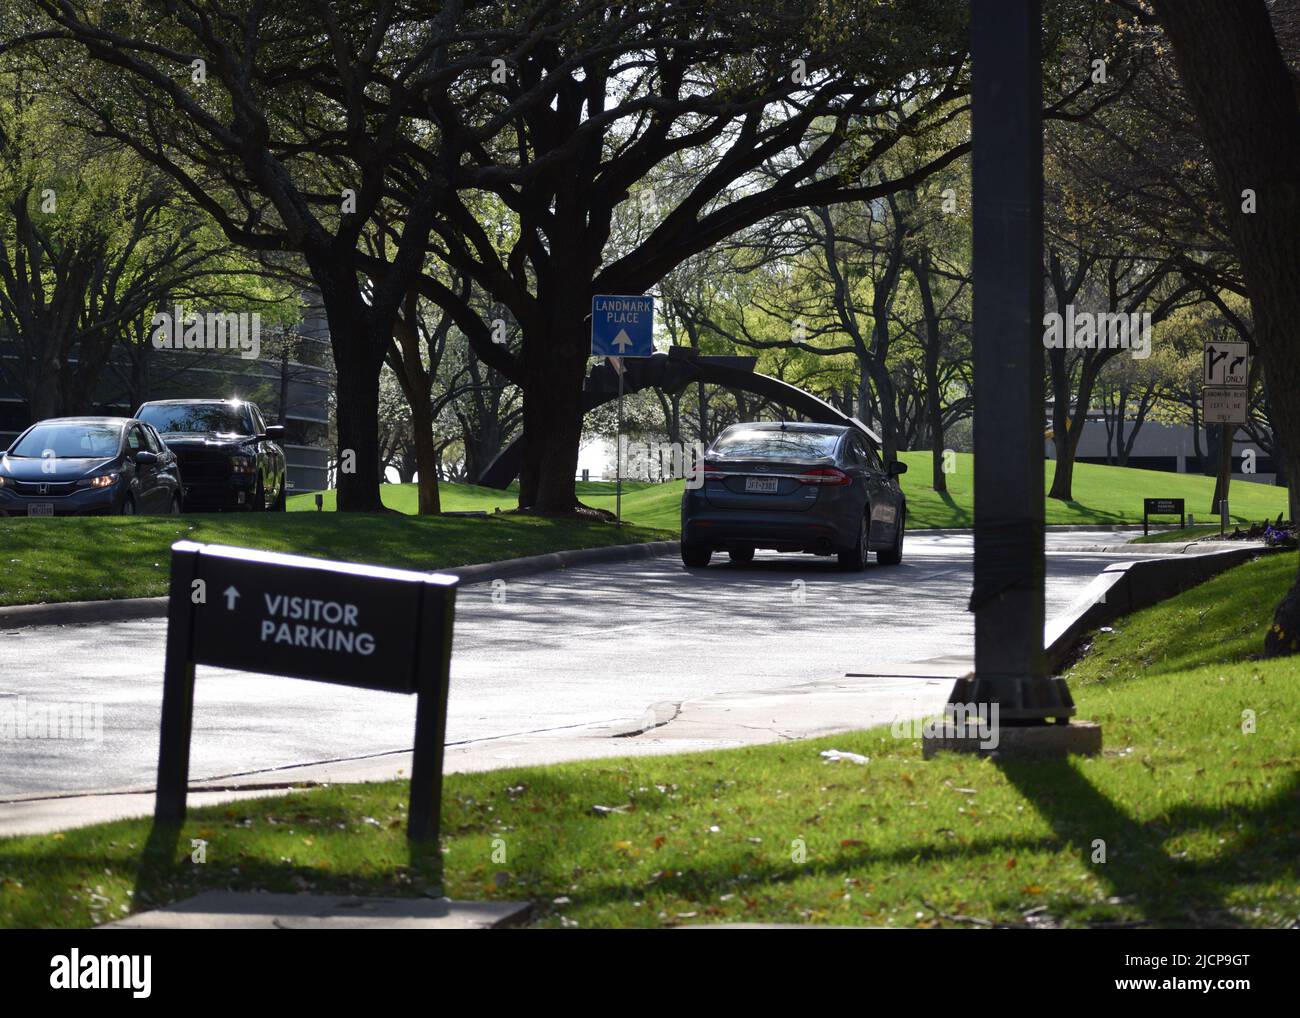
{"label": "shaded grass strip across the road, below the two left vehicles", "polygon": [[671,538],[644,527],[530,516],[212,514],[0,519],[0,605],[166,593],[174,541],[443,569],[476,562]]}

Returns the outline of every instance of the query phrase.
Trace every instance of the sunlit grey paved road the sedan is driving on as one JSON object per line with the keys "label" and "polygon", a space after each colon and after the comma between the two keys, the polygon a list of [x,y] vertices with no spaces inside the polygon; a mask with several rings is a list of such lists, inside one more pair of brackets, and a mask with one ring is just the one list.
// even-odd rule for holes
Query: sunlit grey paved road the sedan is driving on
{"label": "sunlit grey paved road the sedan is driving on", "polygon": [[[1114,534],[1049,534],[1052,543]],[[1048,556],[1048,615],[1118,555]],[[725,559],[724,559],[725,562]],[[715,559],[716,563],[716,559]],[[649,705],[846,673],[952,672],[972,653],[970,536],[909,534],[904,564],[838,572],[760,555],[686,572],[676,559],[569,569],[462,590],[448,744],[641,718]],[[90,703],[103,740],[18,740],[0,794],[150,787],[164,620],[0,633],[0,698]],[[0,699],[4,707],[4,699]],[[191,777],[410,748],[413,699],[200,668]]]}

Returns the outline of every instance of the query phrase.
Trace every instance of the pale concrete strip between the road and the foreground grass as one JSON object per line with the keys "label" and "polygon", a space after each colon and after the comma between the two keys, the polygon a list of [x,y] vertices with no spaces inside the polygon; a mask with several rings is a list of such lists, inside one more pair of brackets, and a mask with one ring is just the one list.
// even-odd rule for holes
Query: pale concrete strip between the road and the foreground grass
{"label": "pale concrete strip between the road and the foreground grass", "polygon": [[[953,680],[971,664],[963,658],[936,658],[881,666],[871,673],[803,685],[655,703],[640,718],[451,744],[443,770],[456,774],[733,749],[859,731],[939,712]],[[322,761],[195,781],[190,806],[281,796],[322,784],[391,781],[410,774],[410,753]],[[0,797],[0,836],[48,833],[152,813],[153,790],[148,788]]]}

